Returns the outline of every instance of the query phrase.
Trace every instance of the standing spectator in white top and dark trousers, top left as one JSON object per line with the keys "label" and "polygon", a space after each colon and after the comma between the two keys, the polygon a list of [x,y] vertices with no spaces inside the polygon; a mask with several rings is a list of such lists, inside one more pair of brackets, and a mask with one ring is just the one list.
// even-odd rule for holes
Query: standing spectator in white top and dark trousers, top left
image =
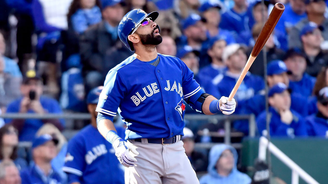
{"label": "standing spectator in white top and dark trousers, top left", "polygon": [[72,0],[41,1],[31,4],[35,31],[38,34],[36,46],[39,75],[45,75],[45,91],[57,96],[57,61],[61,31],[67,30],[67,13]]}

